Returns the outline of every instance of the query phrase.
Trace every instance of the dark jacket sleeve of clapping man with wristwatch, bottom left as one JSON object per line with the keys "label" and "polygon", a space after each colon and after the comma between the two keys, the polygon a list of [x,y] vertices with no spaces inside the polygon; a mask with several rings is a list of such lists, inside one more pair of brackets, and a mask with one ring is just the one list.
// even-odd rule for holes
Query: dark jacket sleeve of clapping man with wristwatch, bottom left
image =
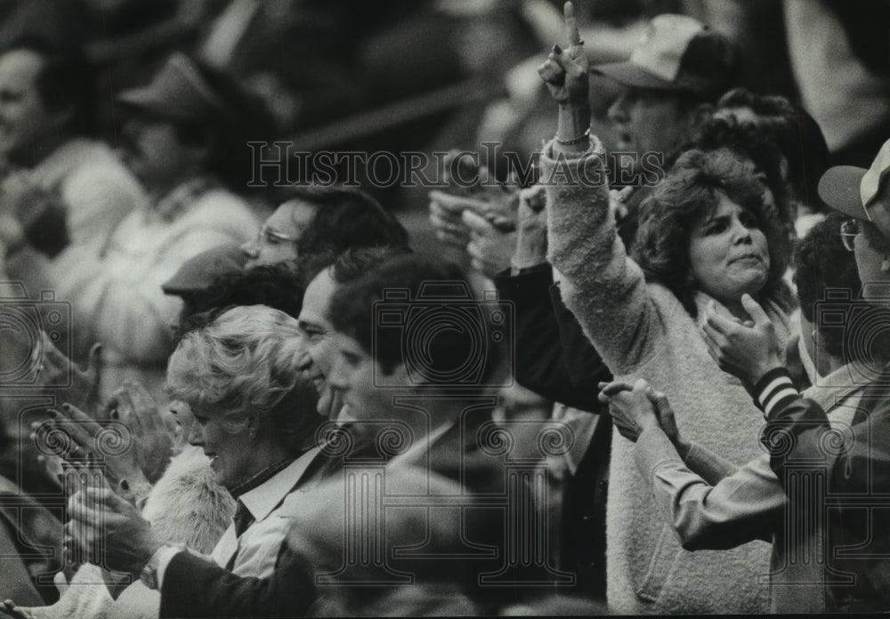
{"label": "dark jacket sleeve of clapping man with wristwatch, bottom left", "polygon": [[312,578],[284,545],[269,578],[237,576],[189,552],[171,559],[161,585],[163,617],[297,617],[315,599]]}

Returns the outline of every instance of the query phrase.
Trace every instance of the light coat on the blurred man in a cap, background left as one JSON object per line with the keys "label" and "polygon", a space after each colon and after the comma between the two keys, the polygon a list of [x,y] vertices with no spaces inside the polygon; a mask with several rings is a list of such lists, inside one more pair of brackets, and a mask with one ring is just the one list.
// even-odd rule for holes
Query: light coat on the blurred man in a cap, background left
{"label": "light coat on the blurred man in a cap, background left", "polygon": [[176,200],[182,208],[172,213],[142,205],[127,215],[101,256],[92,247],[69,245],[53,261],[33,254],[20,258],[27,261],[25,268],[40,270],[35,277],[55,291],[56,301],[70,303],[75,357],[84,356],[94,342],[104,345],[103,398],[134,378],[159,402],[166,401],[166,360],[182,300],[165,294],[161,285],[198,253],[243,243],[259,229],[240,197],[218,187],[197,195],[189,189],[184,183],[171,192],[182,194]]}

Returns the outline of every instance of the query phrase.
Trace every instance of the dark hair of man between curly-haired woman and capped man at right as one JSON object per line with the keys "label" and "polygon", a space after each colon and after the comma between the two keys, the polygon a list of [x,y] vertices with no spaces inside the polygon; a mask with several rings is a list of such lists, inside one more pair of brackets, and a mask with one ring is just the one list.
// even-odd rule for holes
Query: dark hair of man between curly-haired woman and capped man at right
{"label": "dark hair of man between curly-haired woman and capped man at right", "polygon": [[819,330],[826,352],[840,357],[844,350],[844,334],[840,329],[820,329],[813,318],[816,303],[825,300],[828,288],[844,289],[850,299],[858,299],[862,291],[856,258],[841,242],[840,225],[844,218],[831,213],[803,237],[794,251],[794,283],[800,312]]}

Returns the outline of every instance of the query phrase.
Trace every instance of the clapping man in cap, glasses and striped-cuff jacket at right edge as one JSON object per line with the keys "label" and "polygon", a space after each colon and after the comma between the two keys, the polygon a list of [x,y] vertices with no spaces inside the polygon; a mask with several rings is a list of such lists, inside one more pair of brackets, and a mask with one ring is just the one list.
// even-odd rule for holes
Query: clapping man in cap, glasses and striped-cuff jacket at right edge
{"label": "clapping man in cap, glasses and striped-cuff jacket at right edge", "polygon": [[[850,425],[833,432],[821,406],[801,398],[779,361],[773,326],[756,303],[749,310],[753,326],[716,318],[713,326],[720,341],[713,343],[718,361],[748,385],[764,411],[763,441],[771,454],[770,466],[789,494],[789,531],[805,531],[814,519],[827,522],[822,545],[826,609],[886,611],[890,608],[890,533],[884,525],[890,504],[883,498],[890,494],[890,228],[886,225],[890,141],[868,170],[830,168],[821,178],[819,195],[851,218],[838,233],[855,253],[862,279],[862,300],[830,301],[836,317],[853,317],[845,327],[845,350],[856,347],[855,357],[865,359],[845,358],[852,367],[851,392],[861,394],[839,403],[850,408]],[[832,320],[830,313],[822,315],[826,325]],[[806,477],[816,481],[807,484]]]}

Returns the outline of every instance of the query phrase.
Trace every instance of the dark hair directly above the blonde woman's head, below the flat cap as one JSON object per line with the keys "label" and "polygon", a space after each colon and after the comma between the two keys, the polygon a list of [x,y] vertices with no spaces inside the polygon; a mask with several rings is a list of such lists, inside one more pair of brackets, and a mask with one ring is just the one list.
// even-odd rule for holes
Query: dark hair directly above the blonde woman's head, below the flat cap
{"label": "dark hair directly above the blonde woman's head, below the flat cap", "polygon": [[295,267],[287,262],[247,269],[218,277],[206,290],[181,295],[185,304],[175,339],[209,325],[236,305],[265,305],[297,318],[303,308],[303,284]]}

